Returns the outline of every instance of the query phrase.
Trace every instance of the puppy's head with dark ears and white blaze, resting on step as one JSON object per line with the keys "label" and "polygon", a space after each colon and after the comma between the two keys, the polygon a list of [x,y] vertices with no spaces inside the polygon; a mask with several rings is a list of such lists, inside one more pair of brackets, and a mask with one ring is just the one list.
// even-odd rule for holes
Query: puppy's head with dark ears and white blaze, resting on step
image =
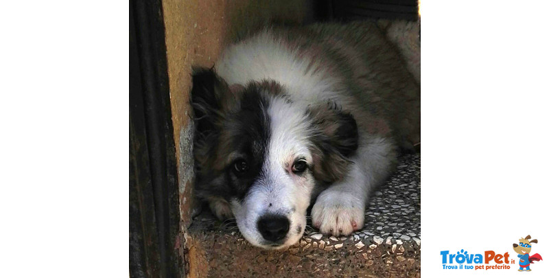
{"label": "puppy's head with dark ears and white blaze, resting on step", "polygon": [[274,81],[229,86],[194,69],[196,192],[226,200],[244,238],[264,248],[301,238],[314,187],[340,180],[358,148],[351,115],[285,93]]}

